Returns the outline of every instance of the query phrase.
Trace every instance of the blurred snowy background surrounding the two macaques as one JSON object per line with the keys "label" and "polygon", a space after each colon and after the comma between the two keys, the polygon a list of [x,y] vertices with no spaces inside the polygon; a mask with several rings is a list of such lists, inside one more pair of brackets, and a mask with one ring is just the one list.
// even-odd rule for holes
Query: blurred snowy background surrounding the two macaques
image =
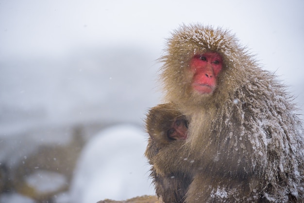
{"label": "blurred snowy background surrounding the two macaques", "polygon": [[0,203],[154,194],[143,121],[183,23],[236,33],[303,114],[303,11],[302,0],[0,0]]}

